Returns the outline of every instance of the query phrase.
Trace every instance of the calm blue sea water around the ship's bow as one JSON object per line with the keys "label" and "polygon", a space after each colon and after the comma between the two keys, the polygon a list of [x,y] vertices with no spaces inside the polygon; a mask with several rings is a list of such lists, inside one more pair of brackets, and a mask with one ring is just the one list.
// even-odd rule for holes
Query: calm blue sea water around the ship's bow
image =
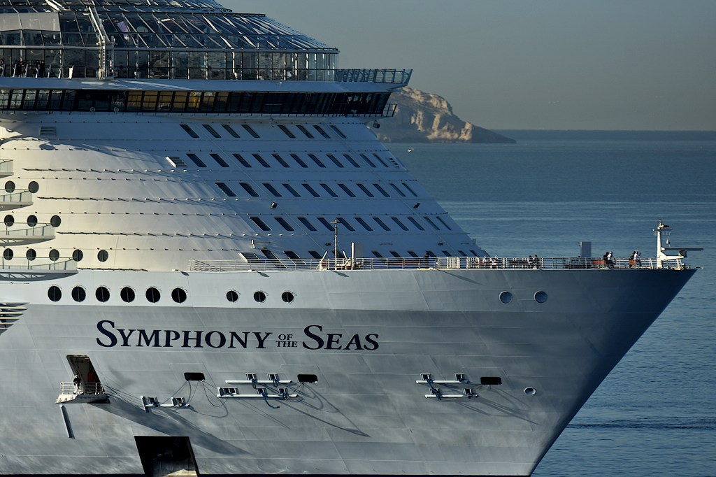
{"label": "calm blue sea water around the ship's bow", "polygon": [[673,246],[705,248],[533,475],[716,475],[716,134],[506,134],[518,143],[390,148],[493,255],[576,256],[591,241],[596,256],[654,256],[659,218]]}

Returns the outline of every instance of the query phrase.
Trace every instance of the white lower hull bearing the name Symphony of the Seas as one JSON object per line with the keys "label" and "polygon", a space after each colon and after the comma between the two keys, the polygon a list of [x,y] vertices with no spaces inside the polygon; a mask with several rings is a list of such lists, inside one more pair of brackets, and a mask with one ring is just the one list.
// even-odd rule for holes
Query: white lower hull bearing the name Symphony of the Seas
{"label": "white lower hull bearing the name Symphony of the Seas", "polygon": [[[181,306],[132,306],[118,295],[51,303],[49,282],[14,283],[13,302],[26,311],[0,334],[0,473],[141,474],[137,436],[183,436],[201,475],[526,476],[691,275],[81,271],[57,281],[65,290],[183,286],[194,292]],[[241,292],[236,303],[226,302],[229,289]],[[266,302],[253,300],[258,290]],[[108,404],[56,403],[75,355],[92,361]],[[296,397],[217,397],[246,373],[291,380]],[[433,384],[438,400],[416,383],[424,373],[468,382]],[[297,384],[298,375],[318,382]],[[480,385],[483,377],[501,384]],[[150,396],[186,405],[145,407]]]}

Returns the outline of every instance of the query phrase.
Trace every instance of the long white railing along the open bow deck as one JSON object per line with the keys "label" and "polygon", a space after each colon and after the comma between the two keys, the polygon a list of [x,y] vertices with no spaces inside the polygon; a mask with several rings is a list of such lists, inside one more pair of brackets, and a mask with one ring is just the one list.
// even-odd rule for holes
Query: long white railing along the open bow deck
{"label": "long white railing along the open bow deck", "polygon": [[[586,257],[403,257],[360,259],[266,259],[266,260],[192,260],[190,271],[308,271],[308,270],[401,270],[401,269],[484,269],[484,270],[567,270],[567,269],[656,269],[657,259],[614,257],[604,259]],[[682,269],[681,259],[664,262],[664,268]]]}

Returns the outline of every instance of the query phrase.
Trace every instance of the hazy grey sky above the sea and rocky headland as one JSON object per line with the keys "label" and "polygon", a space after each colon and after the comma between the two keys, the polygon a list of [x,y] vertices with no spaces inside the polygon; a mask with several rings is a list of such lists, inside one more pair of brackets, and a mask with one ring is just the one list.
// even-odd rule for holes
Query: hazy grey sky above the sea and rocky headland
{"label": "hazy grey sky above the sea and rocky headland", "polygon": [[716,130],[715,0],[219,0],[488,129]]}

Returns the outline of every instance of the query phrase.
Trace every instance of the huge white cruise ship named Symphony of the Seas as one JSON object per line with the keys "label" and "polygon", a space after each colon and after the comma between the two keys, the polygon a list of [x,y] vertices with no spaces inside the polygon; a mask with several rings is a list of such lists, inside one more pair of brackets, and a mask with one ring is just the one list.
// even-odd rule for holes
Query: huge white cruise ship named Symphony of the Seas
{"label": "huge white cruise ship named Symphony of the Seas", "polygon": [[695,271],[490,256],[374,134],[411,72],[262,14],[0,8],[0,474],[528,476]]}

